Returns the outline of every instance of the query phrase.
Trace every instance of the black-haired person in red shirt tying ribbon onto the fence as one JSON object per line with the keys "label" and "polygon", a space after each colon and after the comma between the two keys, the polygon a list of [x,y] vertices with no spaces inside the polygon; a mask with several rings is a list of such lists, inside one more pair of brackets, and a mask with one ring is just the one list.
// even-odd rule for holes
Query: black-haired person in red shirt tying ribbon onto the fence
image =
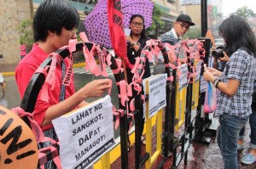
{"label": "black-haired person in red shirt tying ribbon onto the fence", "polygon": [[[54,17],[53,17],[54,16]],[[79,25],[79,13],[76,8],[64,0],[44,0],[40,3],[33,19],[34,40],[32,51],[20,60],[15,69],[15,80],[22,99],[26,87],[38,67],[49,57],[55,56],[55,51],[68,45],[71,39],[76,39],[76,27]],[[52,79],[54,88],[47,87],[48,95],[42,97],[42,89],[38,95],[33,118],[42,128],[44,135],[58,139],[49,130],[54,128],[52,120],[65,115],[68,112],[88,104],[87,98],[102,96],[110,88],[108,79],[100,79],[89,82],[75,91],[73,82],[72,59],[56,58],[55,78]],[[67,67],[67,69],[65,69]],[[50,69],[50,68],[49,68]],[[71,69],[71,71],[70,71]],[[69,75],[70,82],[63,87],[63,73]],[[43,99],[44,98],[44,99]],[[45,99],[47,98],[47,99]],[[63,124],[65,125],[65,124]],[[51,130],[52,131],[52,130]],[[46,133],[47,132],[47,133]],[[46,168],[52,168],[54,164],[46,164]]]}

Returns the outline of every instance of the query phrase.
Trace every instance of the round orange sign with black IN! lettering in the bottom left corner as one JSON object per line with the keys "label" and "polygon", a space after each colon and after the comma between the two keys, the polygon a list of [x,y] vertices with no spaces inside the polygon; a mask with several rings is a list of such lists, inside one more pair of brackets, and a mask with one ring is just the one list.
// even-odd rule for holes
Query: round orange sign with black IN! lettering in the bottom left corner
{"label": "round orange sign with black IN! lettering in the bottom left corner", "polygon": [[0,106],[0,168],[37,168],[38,143],[18,115]]}

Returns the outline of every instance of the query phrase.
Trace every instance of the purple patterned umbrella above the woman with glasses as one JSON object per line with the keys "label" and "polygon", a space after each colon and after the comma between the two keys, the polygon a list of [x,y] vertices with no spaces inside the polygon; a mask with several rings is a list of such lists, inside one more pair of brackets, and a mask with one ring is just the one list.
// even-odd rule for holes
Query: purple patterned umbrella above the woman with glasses
{"label": "purple patterned umbrella above the woman with glasses", "polygon": [[[152,25],[154,3],[150,0],[122,0],[122,12],[125,27],[129,27],[132,14],[141,14],[145,27]],[[108,31],[107,0],[100,0],[84,20],[84,27],[90,42],[95,42],[105,48],[111,48]]]}

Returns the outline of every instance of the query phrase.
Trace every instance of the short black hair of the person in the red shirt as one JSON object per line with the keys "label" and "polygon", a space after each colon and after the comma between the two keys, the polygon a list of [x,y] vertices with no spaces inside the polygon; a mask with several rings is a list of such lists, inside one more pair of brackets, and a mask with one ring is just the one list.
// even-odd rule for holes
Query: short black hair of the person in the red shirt
{"label": "short black hair of the person in the red shirt", "polygon": [[64,27],[72,30],[79,25],[79,13],[66,0],[44,0],[40,3],[33,20],[35,42],[45,42],[48,31],[61,34]]}

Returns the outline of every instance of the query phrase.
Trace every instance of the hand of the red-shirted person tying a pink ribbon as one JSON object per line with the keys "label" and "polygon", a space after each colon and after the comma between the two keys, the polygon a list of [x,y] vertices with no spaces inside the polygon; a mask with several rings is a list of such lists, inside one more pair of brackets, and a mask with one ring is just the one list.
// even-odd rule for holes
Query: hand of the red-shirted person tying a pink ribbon
{"label": "hand of the red-shirted person tying a pink ribbon", "polygon": [[84,93],[85,98],[100,97],[102,94],[110,88],[108,79],[95,80],[87,83],[80,90]]}

